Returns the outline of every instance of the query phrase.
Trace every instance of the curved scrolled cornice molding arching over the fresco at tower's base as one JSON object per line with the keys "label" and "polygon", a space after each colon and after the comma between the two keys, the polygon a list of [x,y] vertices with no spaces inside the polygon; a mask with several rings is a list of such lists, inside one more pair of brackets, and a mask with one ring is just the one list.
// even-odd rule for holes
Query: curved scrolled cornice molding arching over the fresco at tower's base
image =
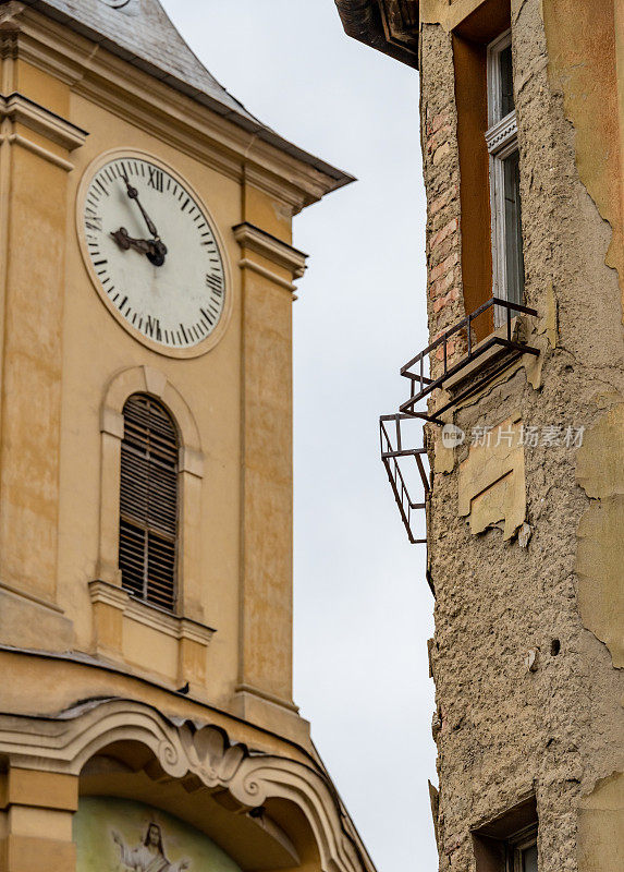
{"label": "curved scrolled cornice molding arching over the fresco at tower's base", "polygon": [[227,790],[243,810],[271,798],[292,802],[310,825],[321,869],[375,872],[329,777],[311,762],[249,751],[208,722],[167,717],[131,700],[94,700],[51,717],[0,715],[0,751],[22,768],[77,776],[117,741],[148,748],[157,766],[145,771],[159,782],[195,776],[209,790]]}

